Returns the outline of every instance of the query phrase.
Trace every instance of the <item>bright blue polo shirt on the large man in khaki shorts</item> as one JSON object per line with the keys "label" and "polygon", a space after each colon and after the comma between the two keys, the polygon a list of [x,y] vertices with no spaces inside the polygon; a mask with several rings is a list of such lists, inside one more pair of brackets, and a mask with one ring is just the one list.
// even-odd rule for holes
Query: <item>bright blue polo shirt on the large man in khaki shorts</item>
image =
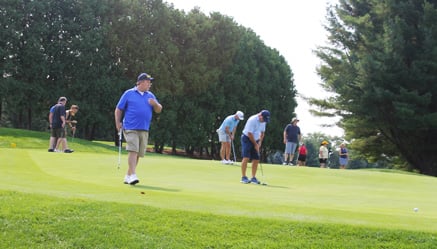
{"label": "bright blue polo shirt on the large man in khaki shorts", "polygon": [[141,94],[137,87],[126,90],[118,101],[117,108],[123,111],[123,129],[148,131],[152,121],[153,107],[149,99],[158,101],[150,92]]}

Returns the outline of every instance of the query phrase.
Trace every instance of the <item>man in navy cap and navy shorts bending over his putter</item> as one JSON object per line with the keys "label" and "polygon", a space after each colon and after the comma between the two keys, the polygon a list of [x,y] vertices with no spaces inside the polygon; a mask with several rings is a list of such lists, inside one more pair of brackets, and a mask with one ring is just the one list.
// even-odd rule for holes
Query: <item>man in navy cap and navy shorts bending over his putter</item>
{"label": "man in navy cap and navy shorts bending over his putter", "polygon": [[[241,135],[241,145],[243,160],[241,161],[241,182],[260,184],[256,179],[256,170],[260,159],[260,148],[264,139],[266,123],[270,121],[270,112],[262,110],[251,116],[244,126],[243,135]],[[252,178],[249,180],[246,176],[247,163],[252,160]]]}

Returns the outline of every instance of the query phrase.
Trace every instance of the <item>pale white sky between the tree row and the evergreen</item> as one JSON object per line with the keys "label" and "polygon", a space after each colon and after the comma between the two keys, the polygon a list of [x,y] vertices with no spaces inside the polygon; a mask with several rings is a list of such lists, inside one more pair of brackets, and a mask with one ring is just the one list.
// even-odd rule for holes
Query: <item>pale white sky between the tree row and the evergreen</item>
{"label": "pale white sky between the tree row and the evergreen", "polygon": [[[320,86],[321,79],[316,73],[316,68],[321,61],[314,54],[314,50],[327,43],[327,32],[323,28],[323,24],[326,23],[326,7],[336,4],[337,0],[164,1],[185,12],[198,7],[207,15],[220,12],[233,18],[239,25],[252,29],[266,46],[278,50],[285,58],[294,74],[294,84],[299,96],[319,99],[330,96]],[[315,132],[343,136],[341,128],[323,126],[334,124],[337,119],[315,117],[308,112],[310,106],[306,101],[298,97],[297,102],[295,113],[300,120],[298,125],[304,136]]]}

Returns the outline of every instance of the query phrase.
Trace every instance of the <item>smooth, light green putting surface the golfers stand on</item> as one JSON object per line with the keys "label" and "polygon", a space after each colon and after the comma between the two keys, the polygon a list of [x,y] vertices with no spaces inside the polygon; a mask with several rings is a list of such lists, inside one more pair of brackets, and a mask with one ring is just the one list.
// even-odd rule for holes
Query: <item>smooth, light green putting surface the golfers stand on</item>
{"label": "smooth, light green putting surface the golfers stand on", "polygon": [[[237,163],[239,165],[239,163]],[[0,189],[63,198],[295,221],[437,232],[437,178],[372,170],[263,164],[267,186],[240,183],[238,165],[148,153],[136,186],[127,155],[0,148]],[[248,169],[248,173],[250,168]],[[418,208],[415,212],[414,208]]]}

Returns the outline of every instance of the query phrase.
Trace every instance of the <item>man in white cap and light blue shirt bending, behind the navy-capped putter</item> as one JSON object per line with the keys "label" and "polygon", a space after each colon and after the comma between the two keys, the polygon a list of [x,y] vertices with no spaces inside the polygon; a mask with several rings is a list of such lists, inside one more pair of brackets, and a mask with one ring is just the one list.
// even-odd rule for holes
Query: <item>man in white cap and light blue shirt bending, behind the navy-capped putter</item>
{"label": "man in white cap and light blue shirt bending, behind the navy-capped putter", "polygon": [[235,138],[235,132],[240,120],[244,120],[244,113],[237,111],[235,114],[227,116],[217,129],[219,142],[221,143],[220,157],[222,164],[233,164],[233,161],[230,159],[231,142]]}

